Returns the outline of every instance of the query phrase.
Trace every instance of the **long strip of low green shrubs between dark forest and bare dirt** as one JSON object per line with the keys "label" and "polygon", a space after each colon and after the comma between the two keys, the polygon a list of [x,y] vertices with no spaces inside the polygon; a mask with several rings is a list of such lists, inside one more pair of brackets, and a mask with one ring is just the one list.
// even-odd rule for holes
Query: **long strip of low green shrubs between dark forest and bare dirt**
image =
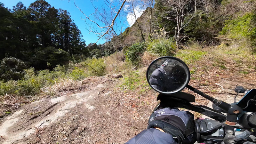
{"label": "long strip of low green shrubs between dark forest and bare dirt", "polygon": [[[35,68],[24,70],[24,77],[18,81],[0,80],[0,95],[17,94],[26,97],[39,95],[45,86],[56,86],[63,82],[74,83],[88,76],[103,76],[106,74],[106,64],[103,59],[89,59],[66,70],[65,66],[57,65],[52,71],[49,69],[35,71]],[[72,78],[73,80],[70,80]],[[66,81],[68,80],[68,81]],[[75,80],[75,81],[74,81]]]}

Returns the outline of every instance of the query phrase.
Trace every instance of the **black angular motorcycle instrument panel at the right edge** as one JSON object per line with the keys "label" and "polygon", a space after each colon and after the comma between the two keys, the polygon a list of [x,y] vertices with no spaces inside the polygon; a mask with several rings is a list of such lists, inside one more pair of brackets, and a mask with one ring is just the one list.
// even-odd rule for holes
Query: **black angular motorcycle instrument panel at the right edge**
{"label": "black angular motorcycle instrument panel at the right edge", "polygon": [[[244,108],[243,110],[247,112],[256,112],[256,102],[252,101],[252,99],[256,100],[256,89],[252,89],[251,91],[247,92],[245,96],[237,103],[237,106]],[[248,107],[245,108],[247,103]]]}

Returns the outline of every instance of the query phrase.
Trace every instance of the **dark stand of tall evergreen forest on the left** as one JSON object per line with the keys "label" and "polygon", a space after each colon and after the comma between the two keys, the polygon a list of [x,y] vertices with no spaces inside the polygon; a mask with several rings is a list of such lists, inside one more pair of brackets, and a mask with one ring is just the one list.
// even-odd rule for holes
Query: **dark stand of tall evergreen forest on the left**
{"label": "dark stand of tall evergreen forest on the left", "polygon": [[101,44],[87,46],[70,17],[68,11],[55,9],[44,0],[37,0],[28,8],[22,2],[12,9],[0,3],[1,79],[20,79],[22,74],[18,73],[29,67],[52,70],[69,60],[81,61],[115,52],[111,48],[104,51]]}

